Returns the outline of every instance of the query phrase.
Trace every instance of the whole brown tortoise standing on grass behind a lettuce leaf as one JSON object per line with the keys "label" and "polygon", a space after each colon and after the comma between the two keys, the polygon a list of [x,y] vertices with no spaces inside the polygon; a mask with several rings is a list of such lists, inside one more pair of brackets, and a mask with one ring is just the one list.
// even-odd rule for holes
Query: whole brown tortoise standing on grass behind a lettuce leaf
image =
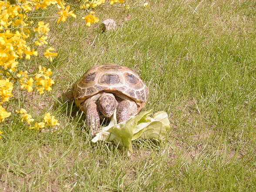
{"label": "whole brown tortoise standing on grass behind a lettuce leaf", "polygon": [[137,115],[148,99],[148,87],[135,71],[117,64],[94,66],[73,85],[77,107],[86,115],[91,134],[100,128],[100,119],[111,118],[117,110],[117,122]]}

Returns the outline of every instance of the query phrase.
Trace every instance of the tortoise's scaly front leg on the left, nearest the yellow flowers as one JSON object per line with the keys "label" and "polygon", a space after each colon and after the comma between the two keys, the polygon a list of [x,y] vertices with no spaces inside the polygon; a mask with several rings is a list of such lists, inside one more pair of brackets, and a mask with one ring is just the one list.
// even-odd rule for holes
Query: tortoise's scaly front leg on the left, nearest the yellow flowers
{"label": "tortoise's scaly front leg on the left, nearest the yellow flowers", "polygon": [[91,135],[95,136],[95,131],[98,131],[100,128],[100,117],[98,112],[98,106],[96,103],[90,103],[85,106],[85,102],[83,104],[83,108],[85,109],[86,125],[91,128]]}

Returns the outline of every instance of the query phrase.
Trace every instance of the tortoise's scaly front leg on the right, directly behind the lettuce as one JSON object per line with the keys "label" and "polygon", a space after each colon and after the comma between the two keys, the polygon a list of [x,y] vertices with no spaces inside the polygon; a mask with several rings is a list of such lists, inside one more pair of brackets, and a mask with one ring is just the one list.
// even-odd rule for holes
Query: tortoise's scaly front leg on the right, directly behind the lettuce
{"label": "tortoise's scaly front leg on the right, directly behind the lettuce", "polygon": [[117,121],[121,123],[130,117],[130,104],[128,101],[121,101],[117,107]]}

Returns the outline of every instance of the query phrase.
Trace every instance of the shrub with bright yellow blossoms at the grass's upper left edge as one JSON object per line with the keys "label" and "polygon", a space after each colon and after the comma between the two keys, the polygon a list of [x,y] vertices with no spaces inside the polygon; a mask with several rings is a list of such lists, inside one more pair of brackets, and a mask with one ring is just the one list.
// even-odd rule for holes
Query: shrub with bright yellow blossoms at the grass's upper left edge
{"label": "shrub with bright yellow blossoms at the grass's upper left edge", "polygon": [[[11,3],[12,2],[12,3]],[[124,0],[109,0],[114,3],[124,3]],[[86,21],[86,26],[99,21],[95,17],[94,7],[105,3],[105,0],[82,0],[80,8],[86,9],[89,13],[82,17]],[[30,13],[35,10],[46,10],[49,6],[57,6],[56,22],[65,22],[67,17],[76,15],[70,10],[63,0],[0,0],[0,123],[11,115],[5,108],[10,97],[13,97],[13,86],[26,90],[35,91],[44,94],[45,91],[51,91],[54,81],[51,79],[51,69],[39,66],[38,71],[31,74],[23,69],[20,64],[21,59],[30,60],[31,57],[37,57],[37,47],[43,47],[44,57],[52,62],[57,56],[54,47],[51,47],[48,40],[50,31],[49,23],[44,21],[35,22],[34,19],[41,17],[30,17]],[[57,119],[50,113],[44,115],[44,121],[34,122],[34,118],[27,113],[25,109],[16,111],[20,114],[21,121],[26,122],[30,129],[40,130],[40,128],[59,125]],[[34,123],[34,125],[32,125]],[[2,131],[0,131],[2,134]]]}

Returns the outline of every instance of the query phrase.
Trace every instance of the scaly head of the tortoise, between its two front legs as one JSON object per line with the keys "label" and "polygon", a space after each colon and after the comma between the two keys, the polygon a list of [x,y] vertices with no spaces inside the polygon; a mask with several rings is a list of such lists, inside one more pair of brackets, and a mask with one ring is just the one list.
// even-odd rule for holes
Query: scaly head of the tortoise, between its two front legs
{"label": "scaly head of the tortoise, between its two front legs", "polygon": [[102,115],[106,118],[110,118],[117,107],[117,101],[114,95],[102,95],[98,100],[98,108]]}

